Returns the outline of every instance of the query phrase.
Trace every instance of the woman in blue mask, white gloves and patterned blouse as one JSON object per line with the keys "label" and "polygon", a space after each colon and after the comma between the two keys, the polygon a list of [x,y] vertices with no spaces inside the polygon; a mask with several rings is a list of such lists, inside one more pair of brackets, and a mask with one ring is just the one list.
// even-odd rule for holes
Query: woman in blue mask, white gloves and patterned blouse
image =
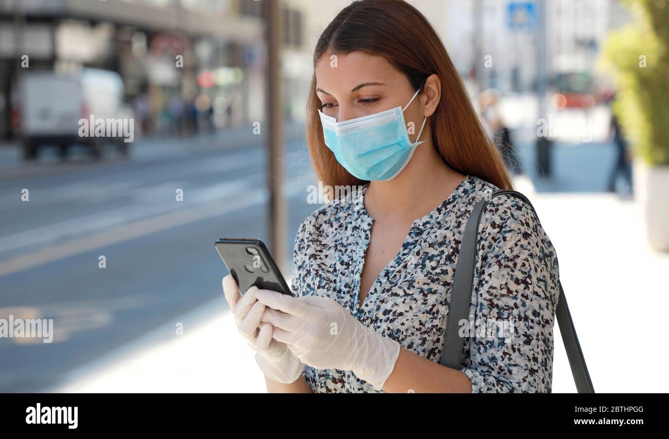
{"label": "woman in blue mask, white gloves and patterned blouse", "polygon": [[[468,214],[511,182],[419,11],[363,0],[334,18],[316,44],[307,136],[324,186],[363,189],[300,226],[296,297],[242,296],[223,279],[268,392],[550,392],[557,259],[510,196],[483,212],[465,361],[439,363]],[[489,320],[514,323],[512,337],[491,337]]]}

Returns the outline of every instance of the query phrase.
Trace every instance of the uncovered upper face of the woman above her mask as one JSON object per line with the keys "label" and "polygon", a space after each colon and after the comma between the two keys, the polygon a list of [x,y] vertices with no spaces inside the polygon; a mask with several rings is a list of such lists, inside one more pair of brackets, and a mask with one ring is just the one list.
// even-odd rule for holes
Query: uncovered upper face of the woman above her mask
{"label": "uncovered upper face of the woman above her mask", "polygon": [[[397,106],[403,108],[414,93],[407,77],[381,56],[361,51],[348,55],[325,52],[316,63],[316,94],[322,104],[320,110],[338,122]],[[417,103],[419,98],[420,94],[405,110],[407,122],[423,120],[424,110]]]}

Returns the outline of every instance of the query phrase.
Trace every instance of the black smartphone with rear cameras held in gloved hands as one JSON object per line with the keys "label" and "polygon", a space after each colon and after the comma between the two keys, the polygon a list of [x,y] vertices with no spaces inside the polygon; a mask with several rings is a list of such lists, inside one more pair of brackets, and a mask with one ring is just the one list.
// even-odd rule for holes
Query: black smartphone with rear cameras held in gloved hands
{"label": "black smartphone with rear cameras held in gloved hands", "polygon": [[225,267],[239,285],[241,294],[256,285],[260,289],[293,295],[272,255],[260,239],[221,238],[216,240],[215,247]]}

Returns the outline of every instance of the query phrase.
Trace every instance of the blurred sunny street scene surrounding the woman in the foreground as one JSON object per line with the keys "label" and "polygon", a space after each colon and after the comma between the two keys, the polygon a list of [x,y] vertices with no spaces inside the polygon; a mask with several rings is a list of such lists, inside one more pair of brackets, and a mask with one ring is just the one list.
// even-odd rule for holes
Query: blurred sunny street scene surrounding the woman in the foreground
{"label": "blurred sunny street scene surrounding the woman in the foreground", "polygon": [[[0,392],[265,391],[213,243],[290,274],[312,51],[348,3],[0,0],[0,319],[54,322],[0,337]],[[411,1],[557,249],[597,392],[669,391],[619,361],[669,359],[667,3]]]}

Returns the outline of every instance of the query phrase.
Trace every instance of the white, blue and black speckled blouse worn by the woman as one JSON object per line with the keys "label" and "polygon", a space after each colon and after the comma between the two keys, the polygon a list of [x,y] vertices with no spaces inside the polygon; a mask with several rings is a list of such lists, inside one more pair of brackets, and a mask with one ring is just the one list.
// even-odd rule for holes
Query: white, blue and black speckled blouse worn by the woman
{"label": "white, blue and black speckled blouse worn by the woman", "polygon": [[[367,187],[320,206],[302,222],[291,289],[298,296],[332,297],[364,325],[438,363],[467,218],[476,202],[499,188],[467,176],[440,206],[415,220],[360,307],[373,223],[363,202]],[[474,331],[465,339],[461,369],[472,392],[551,392],[558,276],[555,249],[532,208],[508,195],[488,202],[478,231]],[[306,365],[302,376],[313,392],[385,393],[349,370]]]}

